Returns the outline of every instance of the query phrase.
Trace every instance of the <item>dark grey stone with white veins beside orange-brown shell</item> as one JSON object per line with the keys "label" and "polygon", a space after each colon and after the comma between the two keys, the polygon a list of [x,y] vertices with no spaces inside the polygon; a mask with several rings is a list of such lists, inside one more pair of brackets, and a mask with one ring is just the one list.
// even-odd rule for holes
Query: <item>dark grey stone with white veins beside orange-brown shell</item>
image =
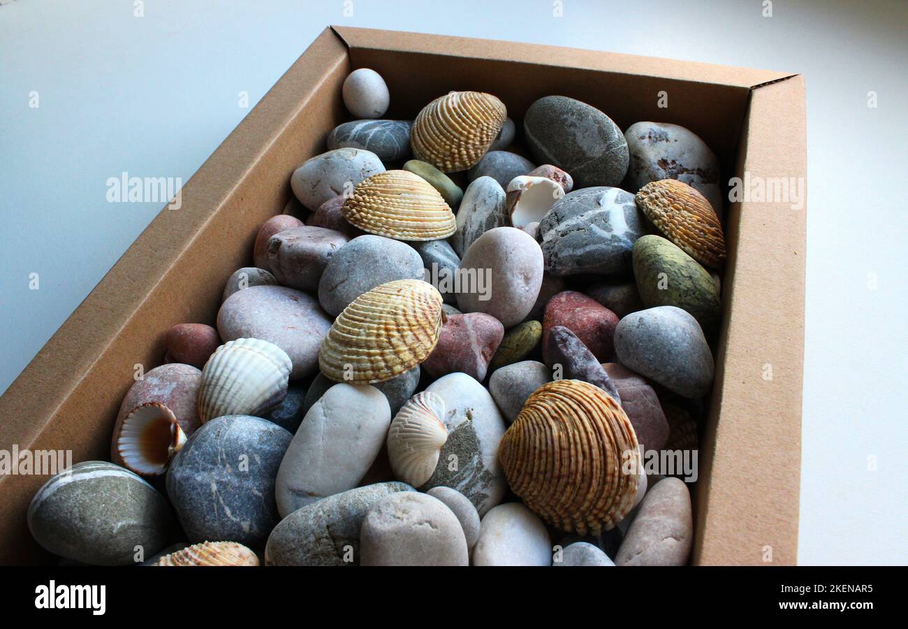
{"label": "dark grey stone with white veins beside orange-brown shell", "polygon": [[565,195],[539,222],[546,272],[552,275],[622,275],[645,234],[634,195],[595,187]]}

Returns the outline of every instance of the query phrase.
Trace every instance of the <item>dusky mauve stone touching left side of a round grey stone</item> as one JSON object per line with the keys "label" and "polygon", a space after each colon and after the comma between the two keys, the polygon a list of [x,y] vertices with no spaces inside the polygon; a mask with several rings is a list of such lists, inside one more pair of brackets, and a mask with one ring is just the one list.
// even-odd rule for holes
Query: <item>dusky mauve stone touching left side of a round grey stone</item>
{"label": "dusky mauve stone touching left side of a round grey stone", "polygon": [[347,241],[341,232],[324,227],[285,229],[268,241],[268,266],[282,285],[314,292],[331,256]]}

